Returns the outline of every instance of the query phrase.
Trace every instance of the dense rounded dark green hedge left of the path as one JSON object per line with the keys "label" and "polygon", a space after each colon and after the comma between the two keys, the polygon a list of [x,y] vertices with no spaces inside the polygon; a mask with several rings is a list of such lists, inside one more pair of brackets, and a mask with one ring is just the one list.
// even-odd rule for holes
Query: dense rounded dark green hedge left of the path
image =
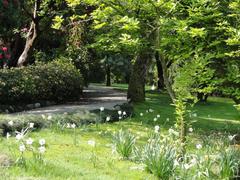
{"label": "dense rounded dark green hedge left of the path", "polygon": [[83,88],[82,76],[64,61],[0,70],[0,103],[76,100]]}

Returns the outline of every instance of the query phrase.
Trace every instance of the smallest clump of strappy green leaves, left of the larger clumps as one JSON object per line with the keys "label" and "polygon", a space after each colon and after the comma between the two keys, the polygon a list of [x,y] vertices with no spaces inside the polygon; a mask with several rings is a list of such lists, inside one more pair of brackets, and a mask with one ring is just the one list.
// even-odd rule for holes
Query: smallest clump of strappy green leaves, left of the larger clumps
{"label": "smallest clump of strappy green leaves, left of the larger clumps", "polygon": [[132,155],[135,141],[136,137],[128,130],[120,129],[113,135],[114,147],[124,159],[129,159]]}

